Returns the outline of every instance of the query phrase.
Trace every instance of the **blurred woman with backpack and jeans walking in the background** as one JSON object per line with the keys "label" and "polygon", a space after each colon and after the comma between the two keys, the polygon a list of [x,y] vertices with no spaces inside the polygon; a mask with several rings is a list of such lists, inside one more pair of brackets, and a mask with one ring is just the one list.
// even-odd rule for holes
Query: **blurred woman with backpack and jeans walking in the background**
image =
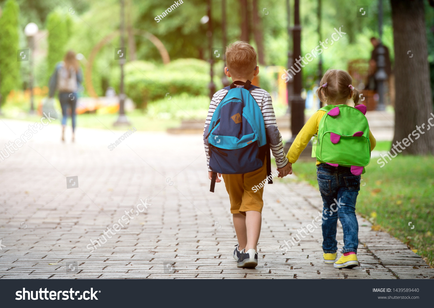
{"label": "blurred woman with backpack and jeans walking in the background", "polygon": [[68,117],[68,107],[71,109],[72,142],[75,140],[76,105],[79,85],[83,80],[82,70],[73,51],[66,52],[62,62],[56,64],[53,75],[49,80],[49,98],[54,97],[54,92],[59,91],[59,101],[62,107],[62,141],[65,141],[65,127]]}

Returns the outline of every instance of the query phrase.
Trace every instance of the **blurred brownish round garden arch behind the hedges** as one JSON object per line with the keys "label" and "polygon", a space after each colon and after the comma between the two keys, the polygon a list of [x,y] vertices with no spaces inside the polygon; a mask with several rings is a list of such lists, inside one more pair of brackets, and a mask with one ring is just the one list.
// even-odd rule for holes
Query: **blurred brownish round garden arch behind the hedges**
{"label": "blurred brownish round garden arch behind the hedges", "polygon": [[[109,35],[105,36],[101,41],[99,41],[90,52],[88,62],[85,66],[85,80],[86,83],[84,84],[84,87],[86,91],[89,93],[91,97],[98,97],[98,95],[95,92],[95,88],[93,87],[93,79],[92,79],[92,66],[93,61],[95,60],[96,55],[98,52],[104,47],[107,43],[109,43],[112,39],[114,39],[116,36],[119,36],[120,31],[116,30]],[[161,59],[163,60],[164,64],[168,64],[170,62],[169,53],[167,52],[167,49],[164,47],[163,43],[154,35],[151,33],[134,29],[134,34],[139,36],[144,36],[146,39],[150,40],[155,47],[157,47],[158,51],[160,52]]]}

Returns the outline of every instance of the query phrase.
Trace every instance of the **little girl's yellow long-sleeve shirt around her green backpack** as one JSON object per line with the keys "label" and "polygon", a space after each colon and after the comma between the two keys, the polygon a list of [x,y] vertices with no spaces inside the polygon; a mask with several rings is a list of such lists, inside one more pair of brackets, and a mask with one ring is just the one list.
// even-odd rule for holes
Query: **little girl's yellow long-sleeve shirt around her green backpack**
{"label": "little girl's yellow long-sleeve shirt around her green backpack", "polygon": [[[294,163],[299,158],[301,152],[306,148],[307,144],[309,143],[309,140],[312,139],[312,136],[318,133],[318,126],[319,121],[321,121],[322,117],[324,116],[325,111],[324,110],[318,110],[316,113],[310,117],[310,119],[304,124],[303,128],[300,130],[298,135],[296,136],[296,139],[294,140],[293,144],[289,148],[288,154],[286,154],[286,158],[288,158],[290,163]],[[374,136],[371,133],[371,130],[369,130],[369,141],[371,142],[371,151],[375,148],[375,145],[377,144]],[[319,165],[321,162],[318,160],[316,161],[316,164]]]}

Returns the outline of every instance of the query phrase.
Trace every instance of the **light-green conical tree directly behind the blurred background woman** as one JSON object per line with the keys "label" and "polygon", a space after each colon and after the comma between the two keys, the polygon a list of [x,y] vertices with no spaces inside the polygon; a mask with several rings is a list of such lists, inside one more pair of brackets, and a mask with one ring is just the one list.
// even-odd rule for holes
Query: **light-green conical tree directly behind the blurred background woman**
{"label": "light-green conical tree directly behind the blurred background woman", "polygon": [[[50,75],[56,63],[62,61],[66,53],[66,44],[68,43],[71,33],[71,20],[69,15],[58,13],[57,11],[49,13],[47,17],[48,30],[48,55],[47,70]],[[47,76],[49,78],[49,76]]]}

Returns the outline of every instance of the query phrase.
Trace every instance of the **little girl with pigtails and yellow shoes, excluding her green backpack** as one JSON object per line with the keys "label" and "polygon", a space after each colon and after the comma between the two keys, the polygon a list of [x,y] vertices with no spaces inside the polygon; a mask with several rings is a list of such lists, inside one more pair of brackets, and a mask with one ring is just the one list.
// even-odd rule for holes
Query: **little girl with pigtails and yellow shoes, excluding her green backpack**
{"label": "little girl with pigtails and yellow shoes, excluding her green backpack", "polygon": [[[359,92],[352,86],[352,78],[346,71],[328,70],[322,77],[316,91],[319,100],[328,105],[346,104],[352,99],[358,105]],[[291,164],[299,158],[313,135],[318,133],[318,126],[326,111],[318,110],[310,117],[296,136],[286,157]],[[371,151],[375,147],[375,138],[369,131]],[[360,175],[354,175],[350,167],[337,167],[316,162],[319,190],[323,201],[322,212],[322,249],[324,262],[334,263],[335,268],[358,266],[358,223],[355,215],[355,203],[360,190]],[[291,172],[292,173],[292,172]],[[342,256],[335,262],[337,255],[336,225],[341,221],[344,233]]]}

